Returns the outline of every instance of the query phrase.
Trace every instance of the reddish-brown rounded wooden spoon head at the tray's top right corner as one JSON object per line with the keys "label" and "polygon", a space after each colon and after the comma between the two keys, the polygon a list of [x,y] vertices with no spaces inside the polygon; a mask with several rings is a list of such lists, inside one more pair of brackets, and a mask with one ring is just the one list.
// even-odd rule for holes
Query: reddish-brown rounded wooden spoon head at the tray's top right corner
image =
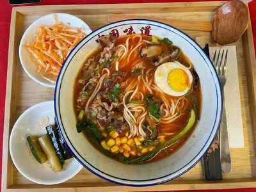
{"label": "reddish-brown rounded wooden spoon head at the tray's top right corner", "polygon": [[214,15],[212,37],[218,44],[232,44],[243,35],[247,22],[246,5],[239,0],[228,1]]}

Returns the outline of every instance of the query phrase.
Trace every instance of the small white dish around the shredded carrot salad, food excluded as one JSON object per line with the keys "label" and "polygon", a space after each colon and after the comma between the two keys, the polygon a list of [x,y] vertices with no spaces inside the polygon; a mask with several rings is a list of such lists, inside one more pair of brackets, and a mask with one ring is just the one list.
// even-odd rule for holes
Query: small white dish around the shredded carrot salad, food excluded
{"label": "small white dish around the shredded carrot salad, food excluded", "polygon": [[40,17],[40,19],[35,20],[24,32],[19,45],[19,57],[20,63],[24,68],[26,74],[28,74],[31,79],[36,81],[36,83],[42,84],[43,86],[54,88],[55,83],[51,83],[40,76],[40,73],[37,72],[36,66],[31,60],[29,52],[24,49],[26,43],[33,42],[36,35],[36,30],[40,26],[52,26],[54,20],[57,19],[63,24],[69,24],[70,27],[83,28],[86,35],[92,32],[92,29],[81,19],[74,15],[67,13],[52,13]]}

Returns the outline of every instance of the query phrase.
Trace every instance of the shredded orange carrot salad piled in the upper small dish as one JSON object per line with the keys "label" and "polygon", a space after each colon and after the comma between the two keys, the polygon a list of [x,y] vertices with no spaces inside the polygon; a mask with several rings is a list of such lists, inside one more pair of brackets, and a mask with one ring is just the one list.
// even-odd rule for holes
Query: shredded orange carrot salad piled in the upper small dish
{"label": "shredded orange carrot salad piled in the upper small dish", "polygon": [[25,48],[30,52],[42,77],[52,81],[51,79],[56,79],[58,76],[68,53],[84,36],[86,36],[84,29],[70,28],[56,22],[50,28],[46,26],[38,28],[35,41],[26,44]]}

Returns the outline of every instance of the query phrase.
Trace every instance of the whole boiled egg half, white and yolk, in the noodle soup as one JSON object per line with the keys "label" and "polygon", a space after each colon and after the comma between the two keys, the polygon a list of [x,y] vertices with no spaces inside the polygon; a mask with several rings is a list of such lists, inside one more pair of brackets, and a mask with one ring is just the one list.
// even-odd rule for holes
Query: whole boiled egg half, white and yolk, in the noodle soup
{"label": "whole boiled egg half, white and yolk, in the noodle soup", "polygon": [[178,61],[163,63],[155,72],[156,85],[166,94],[179,97],[188,93],[193,76],[190,70]]}

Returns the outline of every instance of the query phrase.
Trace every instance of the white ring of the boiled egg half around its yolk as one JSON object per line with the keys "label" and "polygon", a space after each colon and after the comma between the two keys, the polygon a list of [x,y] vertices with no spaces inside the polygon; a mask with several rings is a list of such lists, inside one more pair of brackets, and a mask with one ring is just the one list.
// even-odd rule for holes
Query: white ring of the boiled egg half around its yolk
{"label": "white ring of the boiled egg half around its yolk", "polygon": [[[176,68],[180,68],[180,69],[184,70],[184,72],[186,72],[186,74],[188,75],[188,78],[189,78],[189,87],[186,88],[183,92],[176,92],[168,84],[168,74]],[[175,96],[175,97],[179,97],[179,96],[182,96],[182,95],[185,95],[186,93],[188,93],[188,91],[191,88],[193,76],[187,67],[180,64],[178,61],[174,61],[174,62],[163,63],[162,65],[157,67],[154,79],[155,79],[156,85],[164,93],[166,93],[168,95]]]}

